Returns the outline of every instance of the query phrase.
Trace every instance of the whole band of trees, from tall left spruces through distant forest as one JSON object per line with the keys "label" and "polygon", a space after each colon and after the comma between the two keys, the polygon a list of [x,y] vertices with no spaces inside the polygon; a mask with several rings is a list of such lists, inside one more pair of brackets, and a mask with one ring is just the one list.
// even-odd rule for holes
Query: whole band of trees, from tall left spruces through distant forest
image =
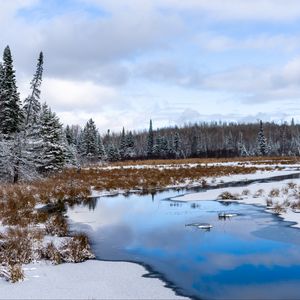
{"label": "whole band of trees, from tall left spruces through distant forest", "polygon": [[0,176],[17,182],[99,161],[190,157],[296,156],[300,125],[290,123],[194,123],[181,127],[100,134],[90,119],[67,125],[41,104],[44,57],[38,56],[30,93],[21,101],[9,46],[0,62]]}

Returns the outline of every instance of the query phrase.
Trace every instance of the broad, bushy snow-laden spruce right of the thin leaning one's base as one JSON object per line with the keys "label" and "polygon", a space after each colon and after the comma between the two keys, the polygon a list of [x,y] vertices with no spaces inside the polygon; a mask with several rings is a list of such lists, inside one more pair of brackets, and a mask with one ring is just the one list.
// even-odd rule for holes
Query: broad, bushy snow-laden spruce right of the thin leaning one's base
{"label": "broad, bushy snow-laden spruce right of the thin leaning one's base", "polygon": [[46,103],[41,109],[39,133],[43,146],[36,162],[38,170],[42,173],[61,170],[66,163],[63,128]]}

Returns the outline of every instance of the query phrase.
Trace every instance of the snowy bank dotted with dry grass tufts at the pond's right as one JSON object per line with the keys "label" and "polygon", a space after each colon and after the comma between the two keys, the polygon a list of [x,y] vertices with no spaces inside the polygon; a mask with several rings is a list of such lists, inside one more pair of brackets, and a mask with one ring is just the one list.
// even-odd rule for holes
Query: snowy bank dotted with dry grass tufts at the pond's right
{"label": "snowy bank dotted with dry grass tufts at the pond's right", "polygon": [[[296,185],[295,188],[288,185]],[[293,227],[300,228],[300,213],[298,209],[292,208],[292,203],[299,203],[299,186],[300,179],[283,180],[279,182],[253,183],[243,187],[229,187],[221,189],[212,189],[199,193],[190,193],[183,196],[175,197],[176,201],[203,201],[218,200],[239,202],[244,204],[264,206],[266,211],[274,213],[274,206],[282,206],[284,211],[279,216],[289,222],[295,222]],[[235,195],[236,199],[220,199],[222,193],[228,192]],[[277,193],[279,193],[277,195]],[[267,201],[271,206],[267,206]]]}

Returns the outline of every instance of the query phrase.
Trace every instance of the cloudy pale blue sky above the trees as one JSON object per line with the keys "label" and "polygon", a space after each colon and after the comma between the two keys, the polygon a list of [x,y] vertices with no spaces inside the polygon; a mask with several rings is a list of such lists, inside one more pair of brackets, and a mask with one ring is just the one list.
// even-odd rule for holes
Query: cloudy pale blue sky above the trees
{"label": "cloudy pale blue sky above the trees", "polygon": [[64,124],[300,121],[299,0],[0,0],[0,28]]}

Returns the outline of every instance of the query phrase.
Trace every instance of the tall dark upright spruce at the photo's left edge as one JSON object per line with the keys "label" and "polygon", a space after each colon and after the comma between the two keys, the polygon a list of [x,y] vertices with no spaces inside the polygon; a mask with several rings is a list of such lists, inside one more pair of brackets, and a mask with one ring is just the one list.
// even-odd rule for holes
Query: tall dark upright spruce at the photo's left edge
{"label": "tall dark upright spruce at the photo's left edge", "polygon": [[9,46],[4,49],[2,84],[0,89],[0,132],[6,135],[19,132],[24,119],[17,91],[15,70]]}

